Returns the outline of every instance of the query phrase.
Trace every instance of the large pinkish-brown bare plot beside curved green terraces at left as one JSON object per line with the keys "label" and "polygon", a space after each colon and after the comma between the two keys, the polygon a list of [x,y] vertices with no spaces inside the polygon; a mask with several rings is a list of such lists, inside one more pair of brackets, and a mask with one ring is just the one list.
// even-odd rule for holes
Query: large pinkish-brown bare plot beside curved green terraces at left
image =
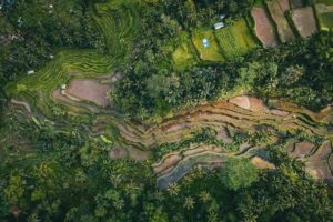
{"label": "large pinkish-brown bare plot beside curved green terraces at left", "polygon": [[101,84],[95,80],[72,80],[67,92],[79,99],[107,107],[110,104],[110,100],[107,98],[109,90],[110,85]]}

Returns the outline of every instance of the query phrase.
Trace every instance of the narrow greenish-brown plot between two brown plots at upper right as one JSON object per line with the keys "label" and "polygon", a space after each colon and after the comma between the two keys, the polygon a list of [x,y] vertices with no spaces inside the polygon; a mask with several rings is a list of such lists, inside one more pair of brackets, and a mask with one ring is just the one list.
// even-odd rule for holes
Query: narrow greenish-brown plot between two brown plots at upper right
{"label": "narrow greenish-brown plot between two brown plots at upper right", "polygon": [[292,39],[294,39],[294,33],[291,29],[291,27],[287,23],[287,20],[284,16],[285,11],[285,6],[284,8],[281,7],[281,4],[278,1],[266,1],[269,11],[278,27],[278,33],[280,37],[280,40],[282,42],[287,42]]}

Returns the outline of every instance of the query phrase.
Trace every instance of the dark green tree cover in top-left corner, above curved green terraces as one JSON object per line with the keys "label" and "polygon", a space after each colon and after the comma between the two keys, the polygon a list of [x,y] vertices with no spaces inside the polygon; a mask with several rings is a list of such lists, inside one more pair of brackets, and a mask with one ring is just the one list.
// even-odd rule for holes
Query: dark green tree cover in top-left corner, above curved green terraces
{"label": "dark green tree cover in top-left corner, above curved green terraces", "polygon": [[104,50],[102,37],[91,17],[91,1],[10,2],[6,3],[4,11],[0,11],[1,98],[7,82],[29,70],[39,70],[61,47]]}

